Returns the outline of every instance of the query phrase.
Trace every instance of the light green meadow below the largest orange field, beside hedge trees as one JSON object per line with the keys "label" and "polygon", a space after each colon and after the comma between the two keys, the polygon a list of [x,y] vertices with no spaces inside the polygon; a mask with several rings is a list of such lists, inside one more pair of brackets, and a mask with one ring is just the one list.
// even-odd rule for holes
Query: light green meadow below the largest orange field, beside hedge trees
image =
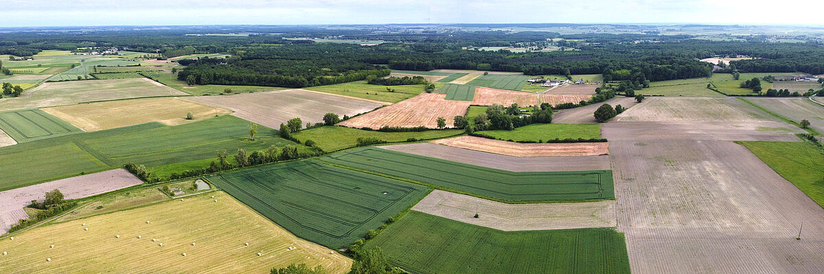
{"label": "light green meadow below the largest orange field, beside hedge trees", "polygon": [[292,134],[301,142],[311,140],[323,151],[332,152],[358,146],[358,137],[375,137],[386,142],[405,142],[409,138],[418,140],[452,137],[463,133],[457,129],[428,130],[425,132],[377,132],[358,128],[321,127],[302,130]]}

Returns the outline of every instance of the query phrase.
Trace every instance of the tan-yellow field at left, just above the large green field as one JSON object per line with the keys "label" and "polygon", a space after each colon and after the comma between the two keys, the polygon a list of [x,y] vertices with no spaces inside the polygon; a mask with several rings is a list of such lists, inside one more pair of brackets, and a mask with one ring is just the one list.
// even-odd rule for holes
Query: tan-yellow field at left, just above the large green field
{"label": "tan-yellow field at left, just above the large green field", "polygon": [[[43,111],[61,118],[86,132],[127,127],[141,123],[160,122],[170,126],[189,123],[231,111],[178,97],[116,100],[89,104],[72,104],[44,108]],[[186,119],[191,112],[193,118]]]}

